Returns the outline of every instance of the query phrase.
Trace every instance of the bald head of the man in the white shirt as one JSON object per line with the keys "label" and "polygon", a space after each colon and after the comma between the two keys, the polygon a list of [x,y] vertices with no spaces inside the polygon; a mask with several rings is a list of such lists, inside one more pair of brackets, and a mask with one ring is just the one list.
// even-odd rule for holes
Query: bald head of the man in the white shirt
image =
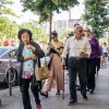
{"label": "bald head of the man in the white shirt", "polygon": [[74,36],[81,38],[83,36],[83,27],[81,25],[74,26]]}

